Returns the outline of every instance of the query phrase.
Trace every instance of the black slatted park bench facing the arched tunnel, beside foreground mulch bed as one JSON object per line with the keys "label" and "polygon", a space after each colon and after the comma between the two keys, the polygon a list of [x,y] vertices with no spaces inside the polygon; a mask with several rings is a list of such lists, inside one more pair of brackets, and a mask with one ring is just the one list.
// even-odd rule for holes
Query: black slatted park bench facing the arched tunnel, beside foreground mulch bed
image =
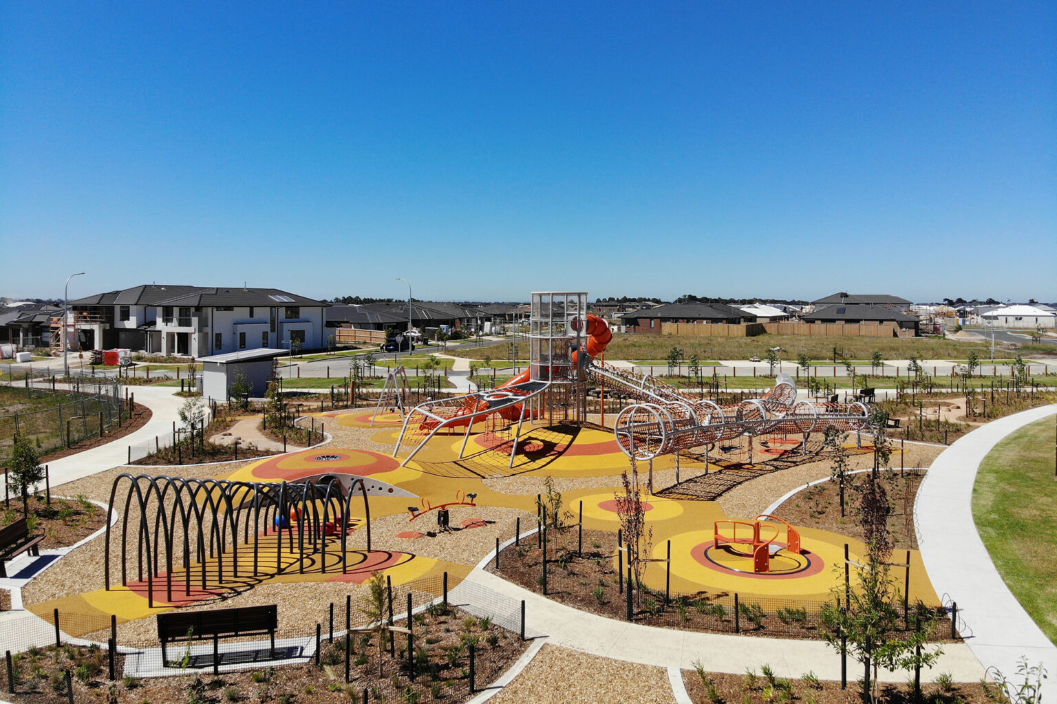
{"label": "black slatted park bench facing the arched tunnel, beside foreground mulch bed", "polygon": [[162,662],[168,664],[166,645],[177,641],[214,642],[243,635],[268,635],[270,655],[275,656],[275,631],[279,613],[275,604],[211,611],[173,611],[157,614],[157,640],[162,643]]}

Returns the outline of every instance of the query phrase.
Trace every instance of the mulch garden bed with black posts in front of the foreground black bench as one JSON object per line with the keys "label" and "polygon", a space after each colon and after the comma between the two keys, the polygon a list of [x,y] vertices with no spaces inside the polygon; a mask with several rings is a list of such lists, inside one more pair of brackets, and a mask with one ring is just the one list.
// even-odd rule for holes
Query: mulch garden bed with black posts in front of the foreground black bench
{"label": "mulch garden bed with black posts in front of the foreground black bench", "polygon": [[[397,626],[406,619],[397,619]],[[66,702],[66,670],[71,670],[74,701],[112,704],[144,702],[359,702],[366,690],[372,702],[462,702],[470,697],[469,648],[475,650],[475,683],[483,689],[506,671],[524,652],[528,642],[518,634],[477,618],[453,607],[435,605],[414,616],[414,671],[407,655],[407,636],[395,636],[394,655],[383,650],[382,670],[375,633],[353,635],[349,683],[345,681],[345,640],[324,640],[320,666],[308,664],[267,667],[244,672],[188,670],[186,675],[135,679],[122,675],[122,656],[115,662],[116,680],[108,678],[105,648],[63,645],[33,649],[16,656],[16,692],[4,697],[17,704]],[[173,646],[172,652],[178,652]],[[412,678],[413,674],[413,678]],[[0,672],[7,691],[6,672]]]}

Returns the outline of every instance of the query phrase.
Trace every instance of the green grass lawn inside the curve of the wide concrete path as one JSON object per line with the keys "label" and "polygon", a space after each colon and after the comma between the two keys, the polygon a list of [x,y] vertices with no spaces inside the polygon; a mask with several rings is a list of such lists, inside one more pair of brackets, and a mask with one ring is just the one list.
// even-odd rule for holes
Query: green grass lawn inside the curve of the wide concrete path
{"label": "green grass lawn inside the curve of the wide concrete path", "polygon": [[984,458],[972,517],[991,560],[1042,632],[1057,644],[1057,479],[1054,419],[1021,428]]}

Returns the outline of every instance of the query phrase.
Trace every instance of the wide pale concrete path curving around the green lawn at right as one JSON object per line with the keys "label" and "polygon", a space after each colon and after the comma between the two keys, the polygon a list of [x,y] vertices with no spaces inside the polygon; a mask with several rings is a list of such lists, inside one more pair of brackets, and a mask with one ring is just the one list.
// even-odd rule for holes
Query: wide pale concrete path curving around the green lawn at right
{"label": "wide pale concrete path curving around the green lawn at right", "polygon": [[1051,678],[1057,675],[1057,647],[995,569],[972,520],[972,485],[980,462],[999,441],[1054,413],[1057,406],[1035,408],[962,437],[932,462],[914,503],[922,559],[932,586],[958,603],[971,629],[966,643],[984,667],[997,667],[1010,680],[1022,655],[1031,664],[1041,662]]}

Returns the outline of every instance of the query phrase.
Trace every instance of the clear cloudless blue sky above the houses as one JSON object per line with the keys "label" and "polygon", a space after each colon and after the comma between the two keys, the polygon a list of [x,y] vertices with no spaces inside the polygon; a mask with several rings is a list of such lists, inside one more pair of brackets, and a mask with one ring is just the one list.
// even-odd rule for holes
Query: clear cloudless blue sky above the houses
{"label": "clear cloudless blue sky above the houses", "polygon": [[1057,300],[1053,2],[0,3],[0,295]]}

